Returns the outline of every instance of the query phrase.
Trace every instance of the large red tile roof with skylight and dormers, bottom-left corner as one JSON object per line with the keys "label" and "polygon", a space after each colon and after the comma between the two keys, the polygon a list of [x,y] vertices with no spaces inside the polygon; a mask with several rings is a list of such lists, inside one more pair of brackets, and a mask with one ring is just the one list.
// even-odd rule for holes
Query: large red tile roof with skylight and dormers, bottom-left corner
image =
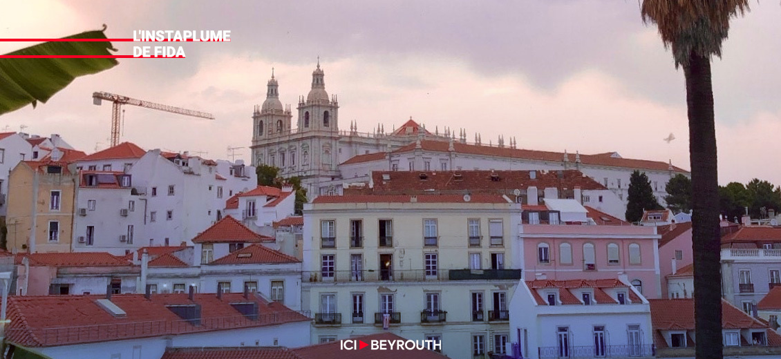
{"label": "large red tile roof with skylight and dormers, bottom-left corner", "polygon": [[[30,296],[8,298],[7,339],[27,347],[53,347],[76,343],[107,342],[152,336],[171,336],[191,332],[207,332],[308,322],[310,319],[282,304],[242,293],[197,293],[194,303],[186,293],[155,294],[147,300],[141,294],[115,294],[111,301],[126,315],[114,317],[98,305],[105,296]],[[241,315],[231,303],[255,302],[259,318]],[[198,304],[200,325],[191,325],[169,310],[168,305]],[[144,325],[140,325],[144,323]],[[74,335],[78,332],[80,335]]]}

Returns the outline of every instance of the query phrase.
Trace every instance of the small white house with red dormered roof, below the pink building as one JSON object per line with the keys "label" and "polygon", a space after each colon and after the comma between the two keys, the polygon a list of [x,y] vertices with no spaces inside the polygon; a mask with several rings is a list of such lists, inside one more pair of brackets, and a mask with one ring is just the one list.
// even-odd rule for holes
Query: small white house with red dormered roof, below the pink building
{"label": "small white house with red dormered roof, below the pink building", "polygon": [[510,329],[515,357],[654,356],[650,305],[624,279],[521,281]]}

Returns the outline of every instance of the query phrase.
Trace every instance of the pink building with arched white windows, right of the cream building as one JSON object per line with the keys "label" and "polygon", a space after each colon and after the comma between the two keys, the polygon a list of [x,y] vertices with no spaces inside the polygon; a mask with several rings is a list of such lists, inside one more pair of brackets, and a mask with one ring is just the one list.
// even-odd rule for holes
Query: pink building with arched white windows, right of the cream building
{"label": "pink building with arched white windows, right of the cream building", "polygon": [[522,216],[526,280],[625,277],[644,297],[662,297],[656,227],[607,221],[572,200],[528,206]]}

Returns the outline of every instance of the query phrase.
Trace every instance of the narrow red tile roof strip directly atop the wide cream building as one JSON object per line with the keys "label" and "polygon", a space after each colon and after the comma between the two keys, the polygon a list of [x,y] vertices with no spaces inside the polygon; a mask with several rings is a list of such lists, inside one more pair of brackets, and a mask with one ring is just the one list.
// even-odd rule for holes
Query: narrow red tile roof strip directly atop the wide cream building
{"label": "narrow red tile roof strip directly atop the wide cream building", "polygon": [[472,194],[469,202],[462,194],[348,194],[344,196],[319,196],[312,203],[512,203],[498,194]]}

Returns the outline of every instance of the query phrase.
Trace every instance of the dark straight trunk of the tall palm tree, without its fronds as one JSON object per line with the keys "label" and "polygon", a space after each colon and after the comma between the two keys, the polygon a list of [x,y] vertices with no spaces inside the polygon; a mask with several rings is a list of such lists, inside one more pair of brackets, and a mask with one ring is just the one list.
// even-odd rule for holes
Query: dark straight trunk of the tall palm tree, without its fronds
{"label": "dark straight trunk of the tall palm tree, without its fronds", "polygon": [[697,359],[722,358],[719,177],[711,60],[690,53],[686,75],[691,162],[694,318]]}

